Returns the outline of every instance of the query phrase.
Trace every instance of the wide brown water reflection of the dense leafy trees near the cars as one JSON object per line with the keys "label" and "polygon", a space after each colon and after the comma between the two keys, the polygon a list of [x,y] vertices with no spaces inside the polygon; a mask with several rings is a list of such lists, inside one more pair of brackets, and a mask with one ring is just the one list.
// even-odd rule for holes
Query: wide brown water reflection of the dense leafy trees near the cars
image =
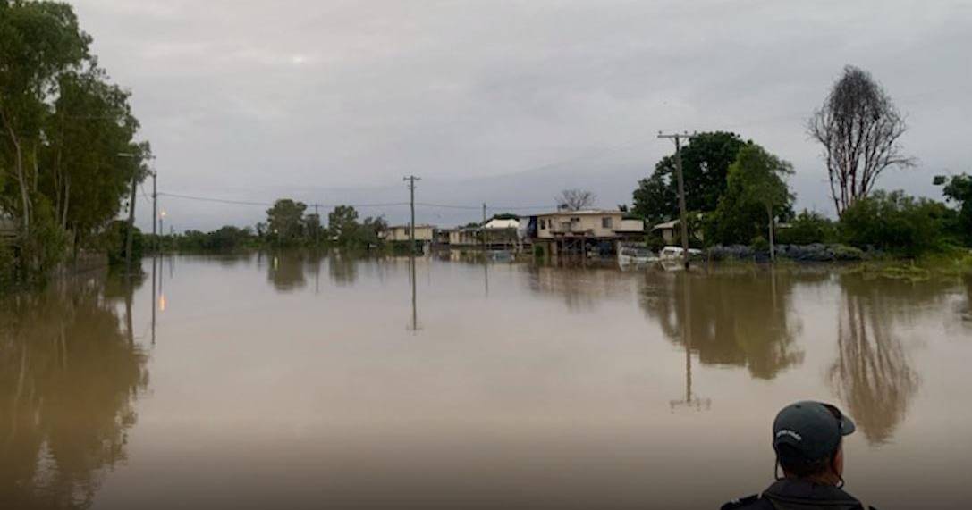
{"label": "wide brown water reflection of the dense leafy trees near the cars", "polygon": [[669,340],[702,363],[746,366],[753,377],[773,379],[803,361],[794,342],[800,323],[790,310],[795,279],[777,271],[649,272],[640,300]]}

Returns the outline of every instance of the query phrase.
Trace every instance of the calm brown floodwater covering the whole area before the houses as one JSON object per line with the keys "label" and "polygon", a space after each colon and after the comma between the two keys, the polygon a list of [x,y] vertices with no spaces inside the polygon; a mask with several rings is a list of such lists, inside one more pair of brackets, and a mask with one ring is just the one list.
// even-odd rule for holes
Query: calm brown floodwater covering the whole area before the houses
{"label": "calm brown floodwater covering the whole area before the houses", "polygon": [[804,398],[858,424],[851,493],[972,492],[969,280],[153,265],[0,302],[0,508],[717,508]]}

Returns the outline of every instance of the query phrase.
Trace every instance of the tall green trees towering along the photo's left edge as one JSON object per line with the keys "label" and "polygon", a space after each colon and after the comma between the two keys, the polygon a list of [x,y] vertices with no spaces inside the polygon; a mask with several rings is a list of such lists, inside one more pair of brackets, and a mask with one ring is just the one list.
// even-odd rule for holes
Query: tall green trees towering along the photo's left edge
{"label": "tall green trees towering along the photo's left edge", "polygon": [[0,220],[16,229],[0,241],[0,284],[116,239],[109,227],[149,173],[129,93],[90,46],[71,6],[0,0]]}

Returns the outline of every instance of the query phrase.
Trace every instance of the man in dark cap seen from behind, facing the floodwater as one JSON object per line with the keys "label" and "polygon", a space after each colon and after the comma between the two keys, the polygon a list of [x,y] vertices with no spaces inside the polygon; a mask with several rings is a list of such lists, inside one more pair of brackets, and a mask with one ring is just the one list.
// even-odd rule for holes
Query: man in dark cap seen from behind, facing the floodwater
{"label": "man in dark cap seen from behind, facing the floodwater", "polygon": [[843,438],[853,431],[853,422],[830,404],[803,401],[784,407],[773,422],[782,478],[778,474],[763,493],[730,501],[722,510],[862,510],[864,505],[841,489]]}

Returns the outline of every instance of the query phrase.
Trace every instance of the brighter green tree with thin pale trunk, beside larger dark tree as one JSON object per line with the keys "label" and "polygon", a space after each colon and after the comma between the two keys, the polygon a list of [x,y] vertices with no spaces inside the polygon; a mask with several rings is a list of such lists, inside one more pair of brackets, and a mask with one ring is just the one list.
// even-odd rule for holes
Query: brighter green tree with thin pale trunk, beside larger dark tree
{"label": "brighter green tree with thin pale trunk, beside larger dark tree", "polygon": [[793,199],[785,181],[786,176],[792,173],[793,166],[789,162],[756,144],[748,144],[740,150],[736,162],[729,167],[729,187],[739,188],[740,201],[743,204],[759,204],[766,212],[770,259],[774,261],[775,211]]}

